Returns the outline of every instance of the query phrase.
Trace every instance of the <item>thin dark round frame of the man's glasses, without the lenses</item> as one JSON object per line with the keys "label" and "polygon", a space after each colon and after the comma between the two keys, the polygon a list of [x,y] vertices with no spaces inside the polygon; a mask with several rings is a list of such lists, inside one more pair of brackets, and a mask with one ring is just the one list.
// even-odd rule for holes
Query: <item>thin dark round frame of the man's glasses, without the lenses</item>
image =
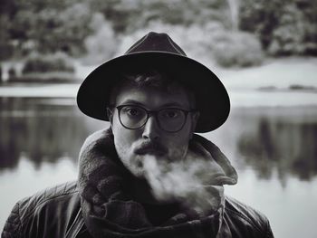
{"label": "thin dark round frame of the man's glasses, without the lenses", "polygon": [[[154,118],[156,119],[156,121],[157,121],[157,123],[158,123],[158,125],[159,125],[159,129],[162,129],[162,127],[161,127],[161,125],[160,125],[160,123],[159,123],[159,119],[158,119],[159,111],[161,111],[161,110],[163,110],[163,109],[179,109],[179,108],[163,108],[163,109],[157,109],[157,110],[149,110],[149,109],[145,109],[145,108],[143,108],[143,107],[141,107],[141,106],[139,106],[139,105],[134,105],[134,104],[123,104],[123,105],[119,105],[119,106],[117,106],[117,107],[112,107],[112,108],[118,109],[118,117],[119,117],[120,124],[121,124],[121,126],[122,126],[123,128],[125,128],[125,129],[130,129],[130,128],[128,128],[127,126],[125,126],[125,125],[122,123],[121,117],[120,117],[120,111],[121,111],[122,108],[127,107],[127,106],[137,107],[137,108],[140,108],[140,109],[144,109],[145,112],[147,113],[147,119],[145,119],[145,122],[144,122],[139,128],[137,128],[137,129],[140,129],[140,128],[144,127],[144,126],[147,124],[147,122],[148,122],[148,120],[149,120],[149,117],[151,117],[152,115],[153,115]],[[197,112],[197,109],[189,109],[189,110],[187,110],[187,109],[179,109],[179,110],[181,110],[181,111],[185,114],[184,123],[183,123],[183,125],[180,127],[180,129],[175,130],[175,131],[168,131],[168,130],[166,130],[166,129],[162,129],[163,131],[168,132],[168,133],[176,133],[176,132],[180,131],[181,129],[184,128],[184,126],[185,126],[185,124],[186,124],[188,114],[189,114],[190,112]]]}

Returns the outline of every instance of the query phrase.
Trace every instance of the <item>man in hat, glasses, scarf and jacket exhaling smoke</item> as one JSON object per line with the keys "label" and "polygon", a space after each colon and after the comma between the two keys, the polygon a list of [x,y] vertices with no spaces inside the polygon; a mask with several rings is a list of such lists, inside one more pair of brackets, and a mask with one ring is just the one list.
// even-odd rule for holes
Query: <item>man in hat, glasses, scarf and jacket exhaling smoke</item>
{"label": "man in hat, glasses, scarf and jacket exhaling smoke", "polygon": [[194,133],[226,121],[226,89],[168,34],[92,71],[77,102],[110,129],[86,139],[78,182],[18,202],[3,237],[273,237],[263,214],[224,195],[235,168]]}

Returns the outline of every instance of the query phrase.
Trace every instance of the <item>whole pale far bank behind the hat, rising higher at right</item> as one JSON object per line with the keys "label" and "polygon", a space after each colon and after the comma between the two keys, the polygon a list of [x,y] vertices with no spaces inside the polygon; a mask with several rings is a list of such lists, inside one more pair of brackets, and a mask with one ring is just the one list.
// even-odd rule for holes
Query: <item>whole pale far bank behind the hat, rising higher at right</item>
{"label": "whole pale far bank behind the hat, rising higher at right", "polygon": [[[272,59],[263,65],[211,70],[228,90],[232,107],[317,105],[317,57]],[[84,79],[95,66],[75,63],[75,78]],[[76,98],[82,80],[71,82],[2,82],[0,97]]]}

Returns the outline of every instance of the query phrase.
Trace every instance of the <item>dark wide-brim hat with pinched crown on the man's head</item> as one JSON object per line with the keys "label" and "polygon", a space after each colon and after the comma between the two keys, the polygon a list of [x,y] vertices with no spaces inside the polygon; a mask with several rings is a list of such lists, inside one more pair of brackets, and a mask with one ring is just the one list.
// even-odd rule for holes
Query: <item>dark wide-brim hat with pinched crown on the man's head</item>
{"label": "dark wide-brim hat with pinched crown on the man's head", "polygon": [[148,33],[123,55],[102,63],[86,77],[77,94],[77,104],[84,114],[109,121],[110,90],[123,72],[147,69],[168,72],[168,79],[178,81],[194,92],[200,112],[195,132],[220,127],[230,111],[225,86],[205,65],[189,57],[167,33]]}

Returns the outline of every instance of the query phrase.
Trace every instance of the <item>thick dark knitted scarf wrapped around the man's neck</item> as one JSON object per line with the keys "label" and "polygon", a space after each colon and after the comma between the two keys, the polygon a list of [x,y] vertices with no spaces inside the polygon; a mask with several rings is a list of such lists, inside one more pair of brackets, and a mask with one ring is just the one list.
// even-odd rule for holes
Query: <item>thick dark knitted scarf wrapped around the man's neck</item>
{"label": "thick dark knitted scarf wrapped around the man's neck", "polygon": [[[194,135],[193,140],[206,148],[223,169],[224,183],[234,185],[237,180],[235,168],[225,155],[206,138]],[[225,203],[224,195],[213,186],[210,186],[210,191],[218,201],[216,211],[202,217],[179,205],[160,224],[150,221],[147,205],[138,202],[128,192],[130,181],[136,178],[120,162],[110,129],[97,131],[86,139],[79,162],[82,215],[94,238],[217,237]]]}

